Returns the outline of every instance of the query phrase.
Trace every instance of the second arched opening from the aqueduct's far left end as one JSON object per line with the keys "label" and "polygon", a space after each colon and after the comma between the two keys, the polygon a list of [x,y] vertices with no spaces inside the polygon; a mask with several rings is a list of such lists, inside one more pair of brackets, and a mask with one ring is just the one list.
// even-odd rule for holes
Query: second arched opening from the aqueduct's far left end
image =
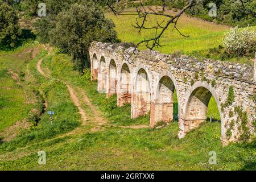
{"label": "second arched opening from the aqueduct's far left end", "polygon": [[100,72],[98,73],[98,92],[106,92],[106,61],[104,56],[100,60]]}

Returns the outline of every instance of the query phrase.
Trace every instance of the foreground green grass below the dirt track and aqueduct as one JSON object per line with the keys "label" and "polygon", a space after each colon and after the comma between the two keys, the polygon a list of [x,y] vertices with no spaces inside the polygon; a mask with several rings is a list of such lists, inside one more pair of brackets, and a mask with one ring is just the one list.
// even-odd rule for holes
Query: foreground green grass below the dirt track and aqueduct
{"label": "foreground green grass below the dirt track and aqueduct", "polygon": [[[222,147],[220,126],[207,123],[185,139],[176,137],[177,123],[161,129],[110,128],[38,144],[34,152],[0,162],[1,169],[57,170],[221,170],[254,169],[255,143]],[[38,148],[38,150],[36,150]],[[37,151],[46,151],[47,165],[38,165]],[[209,151],[216,151],[217,165],[209,165]]]}

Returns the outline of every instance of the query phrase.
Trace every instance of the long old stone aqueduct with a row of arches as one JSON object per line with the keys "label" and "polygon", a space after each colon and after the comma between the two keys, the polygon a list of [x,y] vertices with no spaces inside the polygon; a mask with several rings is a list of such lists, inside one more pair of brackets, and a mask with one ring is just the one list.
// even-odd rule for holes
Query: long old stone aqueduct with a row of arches
{"label": "long old stone aqueduct with a row of arches", "polygon": [[[117,94],[118,106],[131,103],[131,118],[150,111],[150,126],[173,120],[174,91],[179,105],[179,138],[207,119],[213,96],[221,117],[221,140],[226,144],[241,135],[236,107],[247,114],[246,127],[255,134],[255,69],[245,64],[195,60],[188,56],[164,55],[142,51],[127,61],[133,51],[125,44],[94,42],[90,47],[92,80],[98,80],[98,92],[109,97]],[[131,63],[130,63],[131,62]],[[234,101],[225,105],[230,86]],[[233,114],[232,114],[233,113]],[[233,122],[232,121],[236,121]],[[227,131],[229,136],[227,137]],[[231,132],[230,132],[231,131]]]}

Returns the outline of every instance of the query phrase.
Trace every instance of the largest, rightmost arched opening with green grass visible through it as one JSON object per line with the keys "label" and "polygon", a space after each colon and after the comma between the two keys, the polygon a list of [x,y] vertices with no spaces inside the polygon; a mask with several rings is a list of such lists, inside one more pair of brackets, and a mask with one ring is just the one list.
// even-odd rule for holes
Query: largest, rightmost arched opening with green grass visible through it
{"label": "largest, rightmost arched opening with green grass visible through it", "polygon": [[[210,104],[210,108],[209,108]],[[216,119],[221,119],[220,105],[216,96],[204,86],[199,86],[189,96],[185,118],[184,118],[184,132],[195,129],[202,122],[209,121],[209,115],[214,114]]]}

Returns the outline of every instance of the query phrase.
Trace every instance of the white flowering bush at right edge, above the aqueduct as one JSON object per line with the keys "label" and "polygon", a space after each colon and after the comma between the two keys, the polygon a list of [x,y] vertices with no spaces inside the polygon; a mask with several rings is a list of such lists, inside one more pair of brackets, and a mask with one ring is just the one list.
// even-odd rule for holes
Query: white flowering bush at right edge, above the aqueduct
{"label": "white flowering bush at right edge, above the aqueduct", "polygon": [[230,53],[243,56],[255,48],[255,38],[256,32],[252,27],[234,27],[225,34],[223,44]]}

